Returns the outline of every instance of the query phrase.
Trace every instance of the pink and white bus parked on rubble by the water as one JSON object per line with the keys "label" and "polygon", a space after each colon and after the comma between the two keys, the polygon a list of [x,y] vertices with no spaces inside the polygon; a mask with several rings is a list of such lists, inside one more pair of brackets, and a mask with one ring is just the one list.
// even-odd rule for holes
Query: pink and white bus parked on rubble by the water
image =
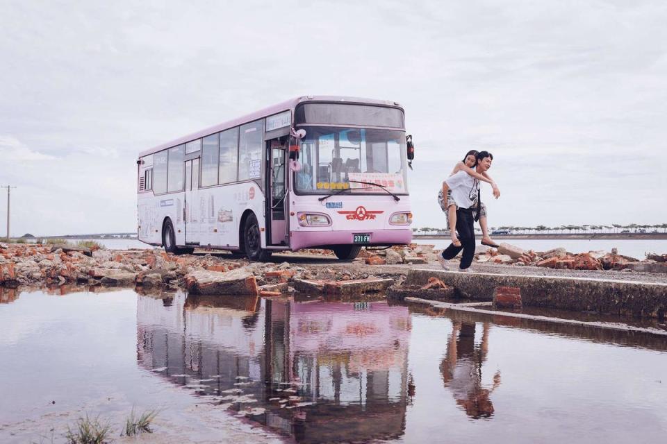
{"label": "pink and white bus parked on rubble by the water", "polygon": [[170,253],[409,244],[404,111],[395,102],[303,96],[139,155],[139,239]]}

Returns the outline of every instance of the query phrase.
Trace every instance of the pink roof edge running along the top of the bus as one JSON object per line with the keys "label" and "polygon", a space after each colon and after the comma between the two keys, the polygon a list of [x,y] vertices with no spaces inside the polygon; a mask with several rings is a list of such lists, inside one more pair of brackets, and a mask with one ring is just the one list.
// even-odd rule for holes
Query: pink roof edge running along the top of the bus
{"label": "pink roof edge running along the top of the bus", "polygon": [[145,151],[142,151],[139,153],[139,157],[143,157],[145,155],[149,155],[152,153],[157,153],[158,151],[162,151],[165,148],[171,148],[172,146],[177,146],[181,144],[185,144],[186,142],[190,142],[191,140],[199,139],[199,137],[204,137],[207,135],[211,135],[214,133],[217,133],[219,131],[224,131],[227,130],[228,128],[233,128],[235,126],[242,125],[243,123],[247,122],[252,122],[257,119],[261,119],[263,117],[270,116],[272,114],[277,114],[278,112],[285,111],[285,110],[291,110],[292,108],[295,108],[299,103],[302,102],[308,102],[308,101],[313,101],[313,102],[345,102],[345,103],[365,103],[365,104],[370,104],[370,105],[388,105],[393,108],[401,108],[402,107],[397,103],[393,101],[387,101],[387,100],[375,100],[375,99],[361,99],[359,97],[346,97],[346,96],[299,96],[295,97],[294,99],[290,99],[288,101],[284,101],[281,103],[277,103],[276,105],[269,106],[267,108],[263,108],[261,110],[258,110],[256,112],[252,112],[250,114],[246,114],[245,116],[238,117],[236,119],[232,119],[223,123],[219,123],[217,125],[211,126],[209,128],[204,128],[203,130],[197,131],[196,133],[188,134],[183,137],[179,137],[178,139],[174,139],[170,142],[166,142],[164,144],[160,144],[158,146],[154,146],[153,148],[147,149]]}

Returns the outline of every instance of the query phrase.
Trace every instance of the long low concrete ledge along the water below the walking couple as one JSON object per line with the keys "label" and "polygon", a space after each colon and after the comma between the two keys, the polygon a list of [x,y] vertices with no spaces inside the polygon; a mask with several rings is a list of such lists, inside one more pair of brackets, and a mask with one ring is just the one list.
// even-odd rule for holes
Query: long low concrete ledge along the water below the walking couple
{"label": "long low concrete ledge along the water below the walking couple", "polygon": [[496,287],[519,287],[525,306],[649,318],[667,311],[667,284],[654,282],[412,268],[404,285],[424,285],[431,277],[454,287],[457,298],[489,301]]}

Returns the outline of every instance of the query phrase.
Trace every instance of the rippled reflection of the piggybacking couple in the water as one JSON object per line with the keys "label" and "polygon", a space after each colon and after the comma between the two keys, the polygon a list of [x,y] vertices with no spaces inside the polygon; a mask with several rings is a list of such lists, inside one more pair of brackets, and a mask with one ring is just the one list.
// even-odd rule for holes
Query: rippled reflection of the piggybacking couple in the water
{"label": "rippled reflection of the piggybacking couple in the water", "polygon": [[470,418],[490,418],[493,403],[489,396],[500,385],[500,371],[493,375],[491,388],[481,384],[481,366],[488,352],[489,324],[483,324],[481,344],[475,347],[475,323],[454,322],[447,355],[440,363],[445,387],[452,391],[456,404],[466,410]]}

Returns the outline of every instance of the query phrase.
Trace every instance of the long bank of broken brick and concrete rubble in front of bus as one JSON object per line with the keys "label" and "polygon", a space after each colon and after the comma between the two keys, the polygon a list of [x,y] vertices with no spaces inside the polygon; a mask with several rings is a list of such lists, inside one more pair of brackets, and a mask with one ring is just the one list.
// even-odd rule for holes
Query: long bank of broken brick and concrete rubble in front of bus
{"label": "long bank of broken brick and concrete rubble in front of bus", "polygon": [[0,244],[0,288],[19,285],[101,284],[185,288],[201,295],[281,296],[296,280],[322,282],[324,293],[382,291],[389,280],[352,267],[300,267],[224,259],[213,255],[176,256],[163,250],[90,250],[72,246]]}

